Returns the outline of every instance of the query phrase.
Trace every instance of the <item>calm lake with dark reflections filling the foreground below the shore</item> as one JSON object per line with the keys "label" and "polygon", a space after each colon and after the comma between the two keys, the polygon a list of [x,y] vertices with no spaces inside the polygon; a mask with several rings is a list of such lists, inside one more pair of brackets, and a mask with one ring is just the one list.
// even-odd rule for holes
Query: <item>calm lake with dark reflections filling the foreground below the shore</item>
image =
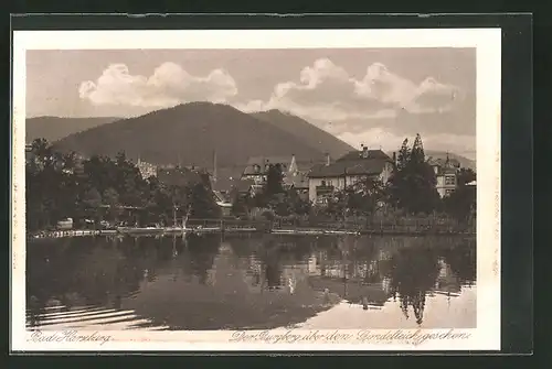
{"label": "calm lake with dark reflections filling the foreground below the shore", "polygon": [[26,256],[30,329],[476,327],[474,238],[82,237]]}

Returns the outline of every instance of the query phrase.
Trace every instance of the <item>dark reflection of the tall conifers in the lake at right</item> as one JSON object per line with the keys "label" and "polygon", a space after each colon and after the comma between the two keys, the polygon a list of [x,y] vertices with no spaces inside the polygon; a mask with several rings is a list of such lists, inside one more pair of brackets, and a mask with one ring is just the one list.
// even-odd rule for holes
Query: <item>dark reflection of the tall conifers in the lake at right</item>
{"label": "dark reflection of the tall conifers in the lake at right", "polygon": [[414,310],[416,323],[422,324],[425,295],[435,285],[439,273],[437,253],[427,247],[399,250],[390,260],[391,294],[399,295],[401,308],[408,318],[408,306]]}

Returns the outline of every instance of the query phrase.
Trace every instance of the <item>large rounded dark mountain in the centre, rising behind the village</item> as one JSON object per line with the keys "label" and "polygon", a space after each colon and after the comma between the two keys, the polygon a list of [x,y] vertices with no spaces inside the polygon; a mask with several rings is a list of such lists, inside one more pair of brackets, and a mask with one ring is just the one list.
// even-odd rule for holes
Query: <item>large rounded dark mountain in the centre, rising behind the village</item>
{"label": "large rounded dark mountain in the centre, rising behind the village", "polygon": [[[317,132],[318,129],[312,127]],[[317,133],[318,134],[318,133]],[[211,102],[190,102],[157,110],[145,116],[121,119],[71,134],[56,142],[61,150],[85,155],[115,155],[156,164],[211,167],[216,150],[217,165],[247,162],[250,156],[289,156],[297,160],[323,160],[331,148],[311,146],[299,137],[273,123],[256,119],[233,107]]]}

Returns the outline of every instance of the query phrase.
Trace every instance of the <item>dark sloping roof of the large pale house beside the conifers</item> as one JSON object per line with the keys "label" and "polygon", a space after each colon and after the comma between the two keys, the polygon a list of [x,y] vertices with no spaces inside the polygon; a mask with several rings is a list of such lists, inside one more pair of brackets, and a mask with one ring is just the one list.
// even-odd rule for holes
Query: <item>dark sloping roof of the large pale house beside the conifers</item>
{"label": "dark sloping roof of the large pale house beside the conifers", "polygon": [[311,178],[338,177],[346,174],[379,175],[388,163],[393,163],[393,161],[381,150],[353,151],[329,165],[312,166],[308,175]]}

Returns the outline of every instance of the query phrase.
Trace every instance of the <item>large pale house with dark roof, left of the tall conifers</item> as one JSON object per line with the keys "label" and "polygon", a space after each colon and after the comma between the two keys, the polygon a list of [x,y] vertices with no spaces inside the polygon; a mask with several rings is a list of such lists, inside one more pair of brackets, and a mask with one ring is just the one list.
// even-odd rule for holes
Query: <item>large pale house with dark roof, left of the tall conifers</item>
{"label": "large pale house with dark roof, left of the tall conifers", "polygon": [[[395,155],[393,155],[395,156]],[[386,183],[394,169],[394,160],[381,150],[351,151],[335,162],[327,155],[323,164],[312,166],[308,173],[309,200],[326,204],[328,197],[367,177]]]}

